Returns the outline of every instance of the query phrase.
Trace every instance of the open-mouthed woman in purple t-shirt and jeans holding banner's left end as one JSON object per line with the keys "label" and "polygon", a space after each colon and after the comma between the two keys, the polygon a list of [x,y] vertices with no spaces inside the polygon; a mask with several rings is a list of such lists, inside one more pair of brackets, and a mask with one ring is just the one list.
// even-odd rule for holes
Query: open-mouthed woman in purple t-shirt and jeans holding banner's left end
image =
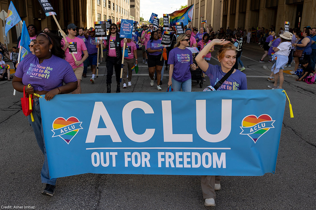
{"label": "open-mouthed woman in purple t-shirt and jeans holding banner's left end", "polygon": [[31,115],[28,115],[28,122],[33,127],[37,144],[44,154],[41,180],[46,183],[46,188],[41,193],[53,196],[56,179],[50,179],[49,176],[39,96],[45,95],[43,97],[46,100],[51,100],[55,95],[71,93],[77,89],[78,81],[71,65],[64,60],[65,52],[58,35],[40,33],[33,42],[35,55],[24,57],[16,69],[12,85],[19,92],[23,92],[25,88],[27,94],[33,94],[34,121],[32,122]]}

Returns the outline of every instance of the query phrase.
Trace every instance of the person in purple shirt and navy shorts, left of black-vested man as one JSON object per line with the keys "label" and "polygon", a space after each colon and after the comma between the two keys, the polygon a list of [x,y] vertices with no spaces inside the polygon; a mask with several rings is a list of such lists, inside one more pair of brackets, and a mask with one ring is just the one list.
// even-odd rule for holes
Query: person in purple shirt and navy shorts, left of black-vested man
{"label": "person in purple shirt and navy shorts, left of black-vested man", "polygon": [[98,60],[98,48],[97,48],[97,41],[95,40],[95,30],[94,28],[90,27],[89,30],[83,33],[84,37],[87,39],[87,51],[88,51],[88,60],[89,64],[91,65],[92,77],[90,82],[94,83],[95,72],[96,72],[96,65]]}

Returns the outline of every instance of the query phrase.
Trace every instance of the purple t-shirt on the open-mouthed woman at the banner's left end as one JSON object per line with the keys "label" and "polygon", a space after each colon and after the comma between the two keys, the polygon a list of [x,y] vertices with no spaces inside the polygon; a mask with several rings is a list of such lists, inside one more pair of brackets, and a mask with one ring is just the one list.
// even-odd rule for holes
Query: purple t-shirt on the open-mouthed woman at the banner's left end
{"label": "purple t-shirt on the open-mouthed woman at the banner's left end", "polygon": [[21,61],[15,71],[15,77],[22,78],[24,85],[31,84],[34,90],[50,91],[64,83],[76,82],[77,78],[71,65],[55,55],[43,60],[30,54]]}

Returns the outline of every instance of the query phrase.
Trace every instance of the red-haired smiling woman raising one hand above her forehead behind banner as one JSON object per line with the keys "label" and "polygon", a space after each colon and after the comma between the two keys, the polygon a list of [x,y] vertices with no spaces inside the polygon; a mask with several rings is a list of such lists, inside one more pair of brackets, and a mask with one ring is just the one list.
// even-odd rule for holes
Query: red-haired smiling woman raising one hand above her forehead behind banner
{"label": "red-haired smiling woman raising one hand above her forehead behind banner", "polygon": [[[203,57],[209,53],[214,45],[223,45],[217,53],[217,59],[220,62],[219,65],[211,65],[207,63]],[[246,90],[247,80],[246,74],[234,69],[233,66],[236,62],[236,47],[225,39],[213,39],[208,43],[201,52],[195,58],[197,65],[202,71],[210,78],[210,84],[212,87],[221,80],[225,74],[229,71],[233,71],[231,75],[226,79],[225,85],[220,86],[217,90]],[[221,176],[209,176],[203,175],[201,177],[201,187],[203,192],[203,198],[205,199],[205,206],[215,206],[215,190],[221,189],[220,184]]]}

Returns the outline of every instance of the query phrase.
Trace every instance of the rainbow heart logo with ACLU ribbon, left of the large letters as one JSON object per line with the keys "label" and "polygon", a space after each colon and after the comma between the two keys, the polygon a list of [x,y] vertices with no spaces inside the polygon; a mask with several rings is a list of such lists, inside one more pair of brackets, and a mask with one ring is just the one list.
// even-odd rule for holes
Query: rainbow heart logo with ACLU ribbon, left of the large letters
{"label": "rainbow heart logo with ACLU ribbon, left of the large letters", "polygon": [[52,132],[54,133],[52,137],[59,136],[64,139],[64,141],[69,144],[71,139],[73,139],[81,127],[77,117],[69,117],[67,120],[64,117],[58,117],[53,122]]}

